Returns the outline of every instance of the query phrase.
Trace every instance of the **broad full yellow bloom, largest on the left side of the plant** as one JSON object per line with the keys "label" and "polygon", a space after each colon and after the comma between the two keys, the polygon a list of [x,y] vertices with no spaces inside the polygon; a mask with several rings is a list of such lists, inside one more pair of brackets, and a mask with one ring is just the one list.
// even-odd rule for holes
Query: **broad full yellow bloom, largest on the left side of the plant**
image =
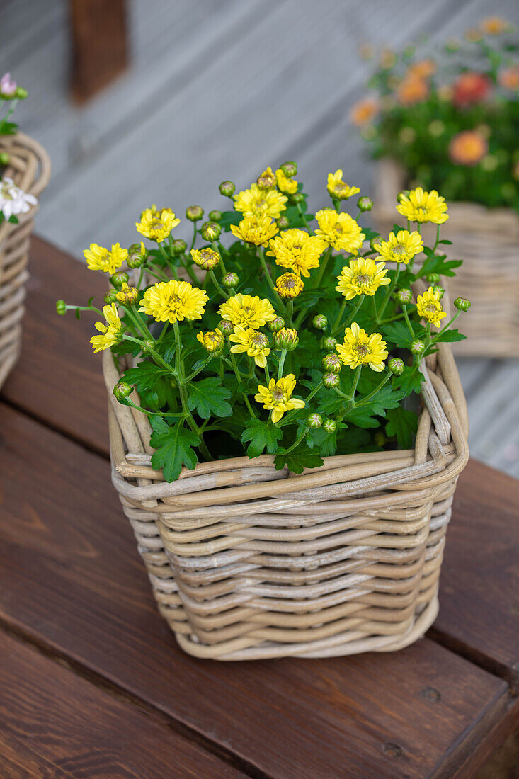
{"label": "broad full yellow bloom, largest on the left side of the plant", "polygon": [[157,322],[182,322],[201,319],[207,294],[187,281],[160,281],[143,294],[139,311],[153,316]]}

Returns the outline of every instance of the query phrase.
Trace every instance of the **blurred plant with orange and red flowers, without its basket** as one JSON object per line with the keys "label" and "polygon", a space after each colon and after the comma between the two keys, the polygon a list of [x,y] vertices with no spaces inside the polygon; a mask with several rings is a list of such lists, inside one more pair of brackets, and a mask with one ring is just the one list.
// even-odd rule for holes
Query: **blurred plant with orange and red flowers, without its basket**
{"label": "blurred plant with orange and red flowers, without its basket", "polygon": [[[493,16],[433,55],[382,51],[351,109],[374,158],[394,157],[408,185],[519,210],[519,61],[515,29]],[[362,55],[367,51],[362,47]],[[372,50],[370,50],[372,51]]]}

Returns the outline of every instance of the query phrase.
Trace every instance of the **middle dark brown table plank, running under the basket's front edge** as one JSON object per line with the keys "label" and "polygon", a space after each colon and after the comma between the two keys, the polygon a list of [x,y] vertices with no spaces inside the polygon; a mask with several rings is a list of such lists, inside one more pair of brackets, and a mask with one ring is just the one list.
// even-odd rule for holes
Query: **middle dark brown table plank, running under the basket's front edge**
{"label": "middle dark brown table plank, running under the basket's front edge", "polygon": [[160,618],[108,464],[0,407],[0,619],[216,742],[255,775],[452,777],[507,685],[430,640],[325,661],[199,661]]}

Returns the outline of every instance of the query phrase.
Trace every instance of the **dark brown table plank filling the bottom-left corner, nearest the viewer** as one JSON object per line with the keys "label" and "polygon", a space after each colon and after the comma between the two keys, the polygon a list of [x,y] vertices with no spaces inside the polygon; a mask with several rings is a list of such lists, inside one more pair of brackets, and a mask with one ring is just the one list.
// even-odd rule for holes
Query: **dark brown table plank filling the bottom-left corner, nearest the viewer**
{"label": "dark brown table plank filling the bottom-left corner, nearest the viewer", "polygon": [[239,779],[150,716],[0,631],[0,772],[13,777]]}

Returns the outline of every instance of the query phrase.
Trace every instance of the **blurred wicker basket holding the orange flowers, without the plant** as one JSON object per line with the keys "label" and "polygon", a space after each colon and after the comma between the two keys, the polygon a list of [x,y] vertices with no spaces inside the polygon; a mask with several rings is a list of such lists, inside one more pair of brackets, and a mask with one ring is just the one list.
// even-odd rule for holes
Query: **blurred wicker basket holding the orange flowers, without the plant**
{"label": "blurred wicker basket holding the orange flowers, without the plant", "polygon": [[[375,181],[373,219],[376,230],[387,235],[399,221],[395,206],[398,192],[407,186],[404,170],[394,160],[380,160]],[[450,297],[472,303],[463,318],[467,340],[455,343],[454,351],[519,357],[519,215],[477,203],[449,203],[449,214],[442,238],[453,245],[442,249],[450,259],[464,260],[448,280]],[[422,234],[426,245],[434,245],[435,225],[425,225]]]}

